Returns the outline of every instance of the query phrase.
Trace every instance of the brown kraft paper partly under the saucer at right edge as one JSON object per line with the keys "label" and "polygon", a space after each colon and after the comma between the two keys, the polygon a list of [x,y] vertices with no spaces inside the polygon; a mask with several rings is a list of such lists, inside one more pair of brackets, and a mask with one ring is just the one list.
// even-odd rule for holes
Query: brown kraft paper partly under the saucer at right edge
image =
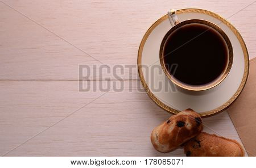
{"label": "brown kraft paper partly under the saucer at right edge", "polygon": [[256,156],[256,58],[250,60],[249,76],[228,113],[249,156]]}

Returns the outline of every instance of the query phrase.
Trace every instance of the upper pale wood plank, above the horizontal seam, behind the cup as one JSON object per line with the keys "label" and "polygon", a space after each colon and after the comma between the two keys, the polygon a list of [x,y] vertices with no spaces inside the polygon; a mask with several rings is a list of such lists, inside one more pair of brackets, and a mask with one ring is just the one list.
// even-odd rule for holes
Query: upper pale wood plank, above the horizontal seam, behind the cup
{"label": "upper pale wood plank, above the horizontal seam, behind the cup", "polygon": [[[137,64],[144,33],[172,7],[207,9],[228,18],[253,0],[3,2],[113,68]],[[241,32],[250,57],[256,55],[255,6],[228,19]],[[0,79],[76,80],[78,65],[100,65],[15,10],[0,3]],[[122,79],[138,79],[136,68],[117,70],[117,74]],[[115,79],[113,69],[89,79],[101,77]]]}

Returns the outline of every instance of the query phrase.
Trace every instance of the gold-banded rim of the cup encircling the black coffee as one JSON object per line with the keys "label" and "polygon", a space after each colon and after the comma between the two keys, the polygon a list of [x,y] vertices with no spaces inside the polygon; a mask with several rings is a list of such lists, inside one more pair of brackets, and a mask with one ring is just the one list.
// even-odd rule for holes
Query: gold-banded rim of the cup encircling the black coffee
{"label": "gold-banded rim of the cup encircling the black coffee", "polygon": [[[225,70],[220,74],[220,77],[214,79],[214,81],[210,82],[208,85],[205,86],[189,86],[189,85],[185,85],[181,82],[179,82],[177,79],[175,79],[174,77],[172,77],[172,75],[168,72],[168,70],[166,69],[166,66],[164,66],[164,57],[163,56],[163,48],[164,48],[164,44],[166,42],[166,40],[168,39],[168,37],[170,36],[170,34],[172,32],[174,32],[177,28],[184,26],[186,24],[189,23],[196,23],[196,24],[204,24],[206,26],[212,27],[214,30],[216,30],[218,33],[220,33],[220,35],[222,36],[222,38],[224,39],[227,48],[228,48],[228,62],[225,66]],[[180,22],[179,24],[176,24],[174,27],[171,28],[171,30],[169,30],[166,35],[163,37],[162,43],[160,45],[160,53],[159,53],[159,59],[160,59],[160,65],[162,66],[163,72],[166,74],[166,76],[175,83],[175,85],[183,88],[183,89],[187,89],[187,90],[192,90],[192,91],[202,91],[202,90],[208,90],[208,89],[212,89],[213,87],[217,86],[218,84],[220,84],[225,78],[226,76],[229,74],[230,69],[232,67],[232,63],[233,63],[233,48],[232,48],[232,44],[231,41],[229,40],[229,37],[226,35],[226,33],[221,30],[220,27],[218,27],[216,24],[208,22],[207,20],[201,20],[201,19],[189,19],[189,20],[185,20],[183,22]]]}

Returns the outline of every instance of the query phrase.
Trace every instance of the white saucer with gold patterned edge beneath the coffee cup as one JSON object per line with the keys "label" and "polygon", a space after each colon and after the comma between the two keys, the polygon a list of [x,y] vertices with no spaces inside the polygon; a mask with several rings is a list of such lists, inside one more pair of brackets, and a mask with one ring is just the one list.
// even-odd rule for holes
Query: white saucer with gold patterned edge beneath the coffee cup
{"label": "white saucer with gold patterned edge beneath the coffee cup", "polygon": [[[147,30],[139,47],[138,70],[144,89],[156,104],[173,114],[186,108],[192,108],[201,116],[209,116],[225,110],[240,95],[249,72],[249,57],[240,33],[224,18],[207,10],[182,9],[177,10],[176,14],[180,22],[188,19],[202,19],[217,24],[232,43],[234,52],[232,69],[220,85],[209,90],[187,91],[176,87],[174,91],[164,91],[166,87],[173,88],[174,83],[166,77],[162,69],[160,73],[152,73],[156,66],[161,67],[160,44],[171,28],[168,16],[164,15]],[[143,68],[145,66],[147,68]],[[147,75],[148,72],[150,75]],[[161,82],[162,89],[156,90],[155,86]]]}

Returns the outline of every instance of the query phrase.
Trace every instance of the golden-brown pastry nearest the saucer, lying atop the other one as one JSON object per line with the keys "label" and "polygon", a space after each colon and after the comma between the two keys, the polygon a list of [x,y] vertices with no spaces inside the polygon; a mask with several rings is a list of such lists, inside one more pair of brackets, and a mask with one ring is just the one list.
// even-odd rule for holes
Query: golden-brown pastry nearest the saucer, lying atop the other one
{"label": "golden-brown pastry nearest the saucer, lying atop the other one", "polygon": [[151,133],[151,142],[156,150],[167,153],[199,135],[202,130],[203,123],[200,115],[187,109],[171,116],[154,128]]}

